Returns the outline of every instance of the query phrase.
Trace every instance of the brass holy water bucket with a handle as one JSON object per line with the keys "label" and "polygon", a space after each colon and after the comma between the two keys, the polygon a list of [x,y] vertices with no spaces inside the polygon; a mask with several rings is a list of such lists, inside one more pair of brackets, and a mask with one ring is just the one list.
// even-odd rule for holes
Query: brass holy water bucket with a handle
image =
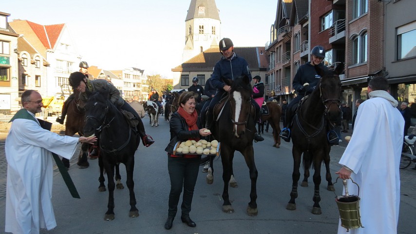
{"label": "brass holy water bucket with a handle", "polygon": [[[351,178],[350,178],[351,179]],[[337,180],[335,183],[337,183]],[[357,185],[358,187],[358,195],[359,195],[359,186],[356,182],[352,179],[351,181]],[[334,184],[335,184],[334,183]],[[352,228],[363,228],[361,224],[361,216],[359,215],[359,196],[358,195],[349,195],[348,188],[347,188],[347,180],[343,179],[342,184],[345,188],[345,195],[344,196],[337,196],[335,194],[335,201],[338,205],[338,210],[340,211],[340,219],[341,219],[341,226],[347,229],[349,232]]]}

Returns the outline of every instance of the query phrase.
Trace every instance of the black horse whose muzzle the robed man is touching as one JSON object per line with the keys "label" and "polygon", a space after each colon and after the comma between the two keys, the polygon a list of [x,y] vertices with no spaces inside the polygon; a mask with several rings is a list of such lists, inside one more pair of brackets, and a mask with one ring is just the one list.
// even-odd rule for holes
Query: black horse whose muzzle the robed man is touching
{"label": "black horse whose muzzle the robed man is touching", "polygon": [[[93,93],[85,103],[86,122],[84,133],[86,136],[98,132],[100,159],[107,173],[108,179],[108,210],[105,220],[114,219],[114,168],[119,163],[126,166],[126,184],[130,193],[130,217],[139,216],[134,195],[134,153],[140,143],[140,137],[133,132],[123,114],[108,99],[107,93]],[[101,182],[101,181],[100,181]]]}

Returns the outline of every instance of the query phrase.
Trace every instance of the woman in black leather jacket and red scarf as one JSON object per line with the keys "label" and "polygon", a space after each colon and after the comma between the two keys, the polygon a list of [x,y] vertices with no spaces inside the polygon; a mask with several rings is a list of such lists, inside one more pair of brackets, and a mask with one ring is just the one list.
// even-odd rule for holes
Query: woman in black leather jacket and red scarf
{"label": "woman in black leather jacket and red scarf", "polygon": [[173,219],[178,210],[179,198],[182,193],[182,215],[181,221],[189,227],[196,227],[196,224],[189,217],[191,211],[193,191],[196,178],[198,177],[200,155],[174,155],[173,148],[177,141],[196,140],[206,137],[206,128],[201,128],[201,121],[195,110],[196,94],[184,92],[179,96],[178,111],[170,117],[170,143],[165,151],[168,152],[168,170],[170,177],[170,194],[168,218],[165,222],[165,229],[172,228]]}

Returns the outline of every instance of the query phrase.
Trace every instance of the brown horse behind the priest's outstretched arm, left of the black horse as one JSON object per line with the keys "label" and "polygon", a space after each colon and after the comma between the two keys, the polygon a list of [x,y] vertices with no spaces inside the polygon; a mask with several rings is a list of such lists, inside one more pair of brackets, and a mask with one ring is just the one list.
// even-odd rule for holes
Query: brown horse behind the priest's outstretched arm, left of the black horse
{"label": "brown horse behind the priest's outstretched arm, left of the black horse", "polygon": [[[84,136],[85,125],[85,110],[82,107],[83,103],[79,100],[79,91],[74,90],[74,99],[68,103],[67,117],[65,121],[65,136],[74,136],[76,133],[79,136]],[[88,168],[90,164],[87,159],[88,144],[81,145],[81,151],[79,152],[78,162],[76,163],[79,168]],[[62,162],[66,168],[69,168],[69,160],[62,158]]]}

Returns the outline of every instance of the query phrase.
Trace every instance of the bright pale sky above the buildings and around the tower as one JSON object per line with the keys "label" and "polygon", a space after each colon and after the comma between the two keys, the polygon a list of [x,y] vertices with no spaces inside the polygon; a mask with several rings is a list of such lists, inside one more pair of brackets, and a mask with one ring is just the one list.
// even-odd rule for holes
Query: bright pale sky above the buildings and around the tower
{"label": "bright pale sky above the buildings and around the tower", "polygon": [[[215,0],[221,37],[234,46],[265,46],[277,0]],[[66,23],[81,60],[104,70],[136,67],[172,78],[182,63],[190,0],[2,0],[9,21]],[[220,54],[218,55],[220,59]]]}

